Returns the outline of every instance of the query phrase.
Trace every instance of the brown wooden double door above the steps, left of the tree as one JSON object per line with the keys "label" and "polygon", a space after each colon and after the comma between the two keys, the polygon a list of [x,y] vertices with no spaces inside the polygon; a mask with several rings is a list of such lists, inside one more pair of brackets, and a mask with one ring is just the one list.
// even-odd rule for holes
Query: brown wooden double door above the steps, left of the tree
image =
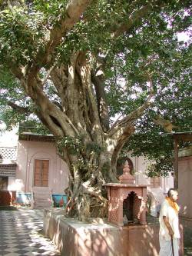
{"label": "brown wooden double door above the steps, left of the tree", "polygon": [[35,159],[34,186],[48,187],[48,160]]}

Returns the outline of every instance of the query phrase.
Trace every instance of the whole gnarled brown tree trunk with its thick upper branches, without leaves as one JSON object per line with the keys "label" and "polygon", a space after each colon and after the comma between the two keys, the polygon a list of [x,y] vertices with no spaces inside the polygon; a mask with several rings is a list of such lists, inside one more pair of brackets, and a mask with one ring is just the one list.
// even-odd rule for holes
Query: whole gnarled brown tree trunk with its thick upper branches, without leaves
{"label": "whole gnarled brown tree trunk with its thick upper branches, without leaves", "polygon": [[[13,11],[18,2],[8,1],[8,8]],[[134,133],[134,121],[142,115],[150,100],[110,128],[102,54],[96,56],[95,52],[94,55],[91,52],[72,52],[69,63],[60,63],[58,67],[56,62],[61,57],[57,51],[58,45],[65,42],[68,32],[80,18],[86,21],[84,11],[91,2],[69,1],[55,25],[45,25],[48,30],[41,47],[33,45],[35,40],[31,32],[28,33],[28,36],[31,35],[30,45],[37,47],[36,52],[30,54],[33,56],[30,61],[19,64],[14,63],[14,59],[10,61],[9,55],[5,58],[12,73],[20,80],[25,95],[34,103],[35,108],[31,111],[57,139],[58,155],[67,162],[69,168],[66,214],[79,219],[104,217],[107,214],[104,182],[118,181],[118,155]],[[151,8],[153,5],[144,5],[133,12],[126,23],[115,26],[111,38],[128,32]],[[42,80],[41,68],[47,70]],[[48,79],[55,86],[55,94],[51,96],[45,89]],[[28,111],[28,108],[12,102],[9,105],[22,113]]]}

